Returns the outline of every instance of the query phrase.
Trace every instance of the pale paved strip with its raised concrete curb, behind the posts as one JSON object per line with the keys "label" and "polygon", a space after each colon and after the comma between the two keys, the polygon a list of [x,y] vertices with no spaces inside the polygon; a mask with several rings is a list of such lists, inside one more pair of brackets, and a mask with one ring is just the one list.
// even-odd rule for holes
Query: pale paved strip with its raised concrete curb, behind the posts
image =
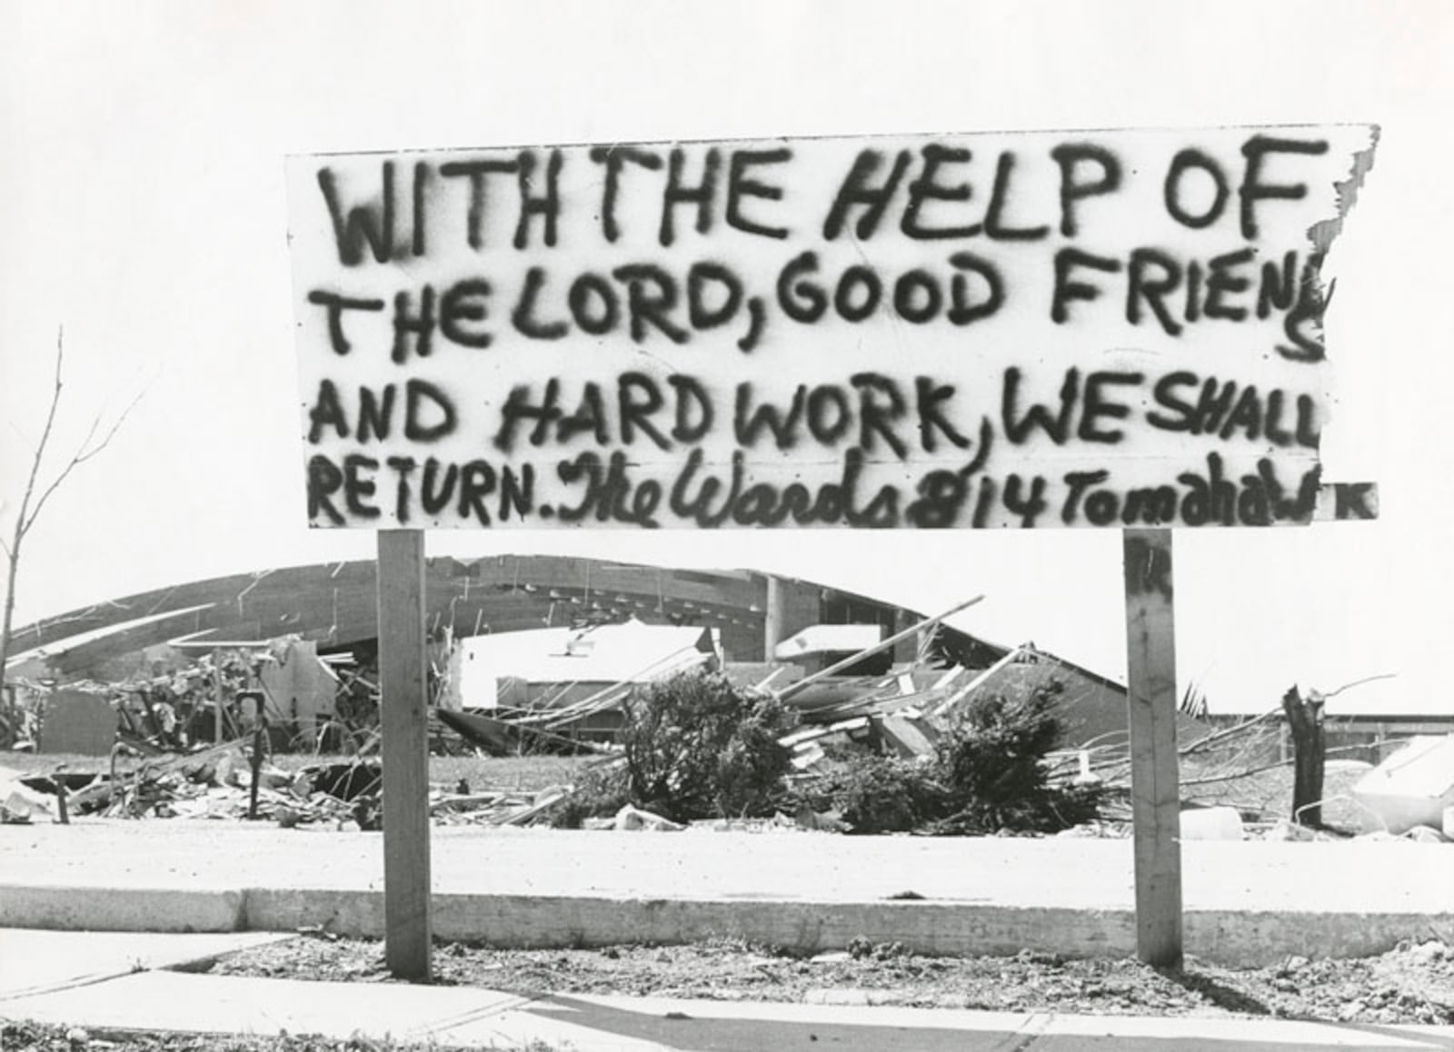
{"label": "pale paved strip with its raised concrete curb, behind the posts", "polygon": [[[1454,849],[1188,843],[1186,950],[1229,965],[1454,939]],[[1128,840],[436,828],[433,924],[502,946],[858,937],[1130,955]],[[0,827],[0,926],[379,936],[382,838],[208,821]]]}

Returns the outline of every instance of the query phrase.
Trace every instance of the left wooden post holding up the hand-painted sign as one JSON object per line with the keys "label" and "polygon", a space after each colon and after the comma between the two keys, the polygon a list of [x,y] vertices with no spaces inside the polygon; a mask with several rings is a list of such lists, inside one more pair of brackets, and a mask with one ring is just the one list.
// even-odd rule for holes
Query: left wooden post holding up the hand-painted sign
{"label": "left wooden post holding up the hand-painted sign", "polygon": [[384,751],[384,960],[427,982],[429,681],[425,664],[425,532],[378,532],[379,728]]}

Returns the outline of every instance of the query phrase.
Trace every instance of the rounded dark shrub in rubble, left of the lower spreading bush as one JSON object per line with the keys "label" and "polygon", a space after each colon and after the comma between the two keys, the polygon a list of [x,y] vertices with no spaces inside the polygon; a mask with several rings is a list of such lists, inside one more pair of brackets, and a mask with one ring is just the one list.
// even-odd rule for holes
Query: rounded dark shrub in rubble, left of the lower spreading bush
{"label": "rounded dark shrub in rubble, left of the lower spreading bush", "polygon": [[621,743],[631,802],[673,821],[771,814],[791,769],[782,705],[689,671],[631,693]]}

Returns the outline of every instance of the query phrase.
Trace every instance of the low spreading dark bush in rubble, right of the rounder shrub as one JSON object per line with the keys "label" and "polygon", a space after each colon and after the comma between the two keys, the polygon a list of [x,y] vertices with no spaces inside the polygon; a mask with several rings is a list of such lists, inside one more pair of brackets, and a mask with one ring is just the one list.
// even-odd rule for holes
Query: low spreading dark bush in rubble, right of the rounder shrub
{"label": "low spreading dark bush in rubble, right of the rounder shrub", "polygon": [[1061,735],[1063,689],[976,700],[928,761],[835,751],[800,799],[853,833],[1054,833],[1089,821],[1099,788],[1051,785],[1044,764]]}

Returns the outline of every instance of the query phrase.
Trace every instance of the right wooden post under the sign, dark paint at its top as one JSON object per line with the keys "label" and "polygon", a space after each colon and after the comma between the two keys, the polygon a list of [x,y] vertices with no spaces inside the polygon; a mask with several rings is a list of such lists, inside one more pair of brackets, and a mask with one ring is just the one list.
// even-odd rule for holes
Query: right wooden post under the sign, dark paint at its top
{"label": "right wooden post under the sign, dark paint at its top", "polygon": [[1182,962],[1182,881],[1170,529],[1124,530],[1122,555],[1136,955],[1149,965],[1176,968]]}

